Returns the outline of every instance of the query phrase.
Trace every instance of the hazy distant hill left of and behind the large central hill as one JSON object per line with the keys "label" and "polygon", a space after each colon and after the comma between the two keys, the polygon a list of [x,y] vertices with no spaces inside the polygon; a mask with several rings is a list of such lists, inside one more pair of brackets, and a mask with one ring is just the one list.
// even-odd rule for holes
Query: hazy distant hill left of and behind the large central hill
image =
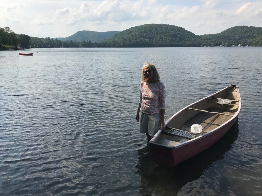
{"label": "hazy distant hill left of and behind the large central hill", "polygon": [[82,42],[82,41],[91,41],[91,42],[97,42],[99,40],[105,39],[107,37],[114,36],[116,33],[119,31],[107,31],[107,32],[96,32],[96,31],[77,31],[75,34],[69,36],[69,37],[57,37],[53,39],[58,39],[58,40],[72,40],[72,41],[77,41],[77,42]]}

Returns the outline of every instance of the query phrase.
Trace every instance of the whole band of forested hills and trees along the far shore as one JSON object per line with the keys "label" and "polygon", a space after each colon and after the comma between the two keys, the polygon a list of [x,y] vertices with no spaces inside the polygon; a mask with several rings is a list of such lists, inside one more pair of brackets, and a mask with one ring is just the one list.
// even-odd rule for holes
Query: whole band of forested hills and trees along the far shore
{"label": "whole band of forested hills and trees along the far shore", "polygon": [[[90,33],[90,37],[81,37]],[[92,33],[91,33],[92,32]],[[0,49],[22,47],[201,47],[201,46],[262,46],[262,27],[236,26],[221,33],[209,35],[195,35],[182,27],[165,24],[146,24],[135,26],[124,31],[78,31],[70,36],[72,39],[78,35],[81,41],[63,41],[58,39],[29,37],[24,34],[15,34],[9,27],[0,28]],[[108,37],[109,35],[112,37]],[[102,39],[102,34],[107,38]],[[91,37],[92,35],[92,37]],[[66,39],[66,38],[64,38]]]}

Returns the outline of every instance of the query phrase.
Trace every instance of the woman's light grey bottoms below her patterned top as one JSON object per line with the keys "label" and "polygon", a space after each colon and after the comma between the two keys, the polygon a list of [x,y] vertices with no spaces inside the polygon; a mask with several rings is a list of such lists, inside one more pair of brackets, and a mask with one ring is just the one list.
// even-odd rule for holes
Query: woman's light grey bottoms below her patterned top
{"label": "woman's light grey bottoms below her patterned top", "polygon": [[148,133],[150,136],[154,136],[156,132],[160,129],[158,126],[161,118],[161,112],[155,114],[146,114],[139,112],[139,132]]}

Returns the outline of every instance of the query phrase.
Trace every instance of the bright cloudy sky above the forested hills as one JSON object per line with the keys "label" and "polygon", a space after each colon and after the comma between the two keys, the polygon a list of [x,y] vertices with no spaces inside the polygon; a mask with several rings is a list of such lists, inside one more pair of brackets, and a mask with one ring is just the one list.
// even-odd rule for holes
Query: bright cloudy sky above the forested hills
{"label": "bright cloudy sky above the forested hills", "polygon": [[124,31],[161,23],[196,35],[262,26],[262,0],[1,0],[0,27],[31,37]]}

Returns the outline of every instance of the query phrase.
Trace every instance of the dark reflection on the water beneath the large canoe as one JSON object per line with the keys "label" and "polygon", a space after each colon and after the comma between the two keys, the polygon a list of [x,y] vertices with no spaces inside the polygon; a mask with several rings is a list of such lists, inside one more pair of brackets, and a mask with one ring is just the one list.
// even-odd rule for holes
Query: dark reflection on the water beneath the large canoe
{"label": "dark reflection on the water beneath the large canoe", "polygon": [[[216,161],[223,159],[224,154],[230,150],[238,137],[238,120],[229,131],[213,146],[169,169],[158,166],[153,162],[149,144],[138,150],[136,165],[141,174],[141,195],[177,195],[180,189],[188,182],[200,178],[205,170]],[[187,192],[191,193],[190,190]]]}

